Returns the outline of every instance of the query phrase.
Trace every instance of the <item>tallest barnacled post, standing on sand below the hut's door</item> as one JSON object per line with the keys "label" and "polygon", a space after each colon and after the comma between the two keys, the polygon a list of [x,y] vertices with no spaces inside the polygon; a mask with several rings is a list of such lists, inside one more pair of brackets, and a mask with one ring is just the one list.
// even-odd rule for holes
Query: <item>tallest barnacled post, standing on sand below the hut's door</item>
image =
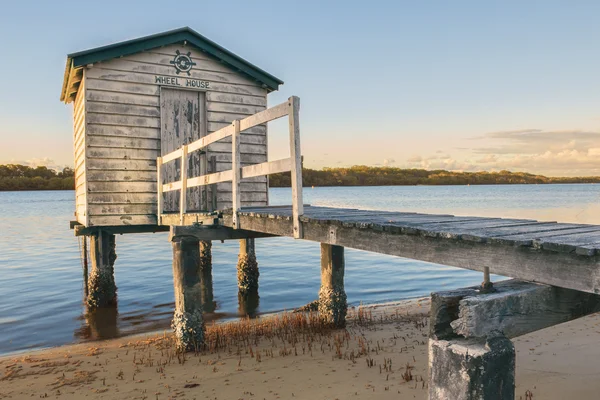
{"label": "tallest barnacled post, standing on sand below the hut's door", "polygon": [[179,236],[173,239],[173,286],[175,315],[172,327],[180,351],[200,349],[204,343],[200,243],[198,239]]}

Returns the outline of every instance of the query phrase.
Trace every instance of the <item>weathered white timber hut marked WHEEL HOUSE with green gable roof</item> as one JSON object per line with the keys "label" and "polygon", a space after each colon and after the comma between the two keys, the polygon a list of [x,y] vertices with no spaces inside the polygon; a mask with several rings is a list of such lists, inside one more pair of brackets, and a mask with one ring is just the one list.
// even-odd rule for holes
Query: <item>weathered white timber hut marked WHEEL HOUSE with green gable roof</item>
{"label": "weathered white timber hut marked WHEEL HOUSE with green gable roof", "polygon": [[[85,227],[157,225],[157,157],[263,111],[283,82],[190,28],[67,57],[61,101],[74,104],[76,220]],[[231,136],[187,156],[190,175],[230,170]],[[267,161],[267,127],[240,135],[241,165]],[[175,160],[162,182],[181,178]],[[231,182],[189,188],[186,209],[231,207]],[[266,176],[240,183],[241,206],[268,204]],[[177,212],[180,196],[163,194]]]}

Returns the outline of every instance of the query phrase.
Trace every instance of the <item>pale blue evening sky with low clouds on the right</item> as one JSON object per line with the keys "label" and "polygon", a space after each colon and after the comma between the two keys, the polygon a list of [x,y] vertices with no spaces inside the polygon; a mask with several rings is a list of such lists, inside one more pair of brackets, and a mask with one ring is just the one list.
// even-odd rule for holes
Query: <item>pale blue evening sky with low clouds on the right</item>
{"label": "pale blue evening sky with low clouds on the right", "polygon": [[306,167],[600,175],[598,1],[0,6],[0,164],[73,164],[68,53],[189,26],[284,80],[269,104],[301,98]]}

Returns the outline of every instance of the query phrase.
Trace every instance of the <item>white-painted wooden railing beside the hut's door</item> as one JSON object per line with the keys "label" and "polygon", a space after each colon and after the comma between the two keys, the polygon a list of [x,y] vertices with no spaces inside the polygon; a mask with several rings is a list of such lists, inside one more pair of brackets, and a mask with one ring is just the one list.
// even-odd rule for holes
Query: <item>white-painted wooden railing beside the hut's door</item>
{"label": "white-painted wooden railing beside the hut's door", "polygon": [[[300,152],[300,99],[292,96],[287,102],[268,108],[264,111],[251,115],[242,120],[235,120],[231,125],[219,129],[203,138],[200,138],[190,144],[183,145],[169,154],[156,159],[157,179],[158,179],[158,223],[161,224],[163,215],[162,196],[165,192],[173,190],[180,191],[179,201],[179,219],[183,224],[186,214],[186,192],[188,188],[196,186],[211,185],[219,182],[231,181],[232,190],[232,208],[233,208],[233,228],[238,229],[240,222],[238,212],[241,206],[240,181],[244,178],[276,174],[280,172],[291,171],[292,173],[292,216],[294,237],[302,237],[302,226],[300,216],[304,214],[302,203],[302,155]],[[282,160],[267,161],[261,164],[241,166],[240,162],[240,133],[256,125],[265,124],[278,118],[288,116],[290,131],[290,157]],[[187,155],[191,152],[203,149],[209,144],[222,140],[226,137],[232,137],[231,140],[231,163],[232,169],[211,174],[188,178]],[[162,184],[161,167],[170,161],[181,159],[181,179],[175,182]]]}

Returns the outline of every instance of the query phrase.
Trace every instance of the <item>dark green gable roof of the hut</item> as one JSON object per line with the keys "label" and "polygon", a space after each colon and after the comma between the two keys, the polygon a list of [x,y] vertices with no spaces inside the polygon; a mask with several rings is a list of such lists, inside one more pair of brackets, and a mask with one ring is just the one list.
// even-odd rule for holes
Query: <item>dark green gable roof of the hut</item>
{"label": "dark green gable roof of the hut", "polygon": [[236,71],[260,82],[269,91],[278,90],[283,81],[233,54],[189,27],[157,33],[137,39],[96,47],[67,55],[67,65],[60,95],[65,103],[73,101],[83,79],[83,67],[101,61],[139,53],[175,43],[187,42],[201,51],[223,61]]}

